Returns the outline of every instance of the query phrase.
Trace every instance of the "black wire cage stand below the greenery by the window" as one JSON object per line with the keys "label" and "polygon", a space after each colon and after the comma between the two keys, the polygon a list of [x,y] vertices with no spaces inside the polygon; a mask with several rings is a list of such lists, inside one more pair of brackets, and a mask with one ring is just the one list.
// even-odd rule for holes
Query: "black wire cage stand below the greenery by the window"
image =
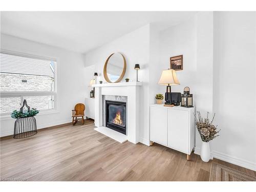
{"label": "black wire cage stand below the greenery by the window", "polygon": [[34,117],[20,117],[14,123],[14,139],[22,139],[37,134],[36,120]]}

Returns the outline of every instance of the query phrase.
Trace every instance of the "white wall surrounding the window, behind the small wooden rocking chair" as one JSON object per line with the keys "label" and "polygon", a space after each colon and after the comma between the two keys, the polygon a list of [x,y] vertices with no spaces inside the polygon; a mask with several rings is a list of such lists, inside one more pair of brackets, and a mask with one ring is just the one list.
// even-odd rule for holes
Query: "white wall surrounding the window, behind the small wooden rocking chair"
{"label": "white wall surrounding the window, behind the small wooden rocking chair", "polygon": [[[57,111],[36,116],[38,129],[71,122],[71,110],[78,102],[84,102],[88,83],[84,81],[86,70],[82,54],[40,44],[37,42],[1,34],[1,49],[57,58]],[[28,103],[29,104],[29,103]],[[33,107],[33,106],[31,106]],[[17,106],[17,109],[19,106]],[[13,109],[14,110],[14,109]],[[1,119],[1,137],[12,135],[15,119]]]}

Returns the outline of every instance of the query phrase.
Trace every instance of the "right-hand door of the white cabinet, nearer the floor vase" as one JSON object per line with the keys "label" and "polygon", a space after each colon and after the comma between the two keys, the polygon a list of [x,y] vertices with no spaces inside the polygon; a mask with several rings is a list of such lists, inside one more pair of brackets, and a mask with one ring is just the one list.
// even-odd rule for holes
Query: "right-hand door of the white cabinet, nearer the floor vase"
{"label": "right-hand door of the white cabinet, nearer the floor vase", "polygon": [[188,154],[189,112],[168,109],[168,146]]}

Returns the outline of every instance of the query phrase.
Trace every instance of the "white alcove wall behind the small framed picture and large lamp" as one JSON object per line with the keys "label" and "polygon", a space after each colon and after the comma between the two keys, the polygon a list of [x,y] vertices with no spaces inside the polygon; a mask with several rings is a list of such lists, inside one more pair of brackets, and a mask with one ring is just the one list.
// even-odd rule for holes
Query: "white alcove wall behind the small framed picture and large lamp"
{"label": "white alcove wall behind the small framed picture and large lamp", "polygon": [[[170,69],[170,57],[183,55],[183,70],[176,71],[180,85],[172,86],[172,92],[183,93],[188,86],[192,94],[196,96],[197,50],[196,50],[196,22],[191,18],[187,22],[170,27],[160,32],[160,64],[158,80],[162,70]],[[166,92],[166,86],[158,85],[162,94]],[[193,100],[196,103],[196,99]]]}

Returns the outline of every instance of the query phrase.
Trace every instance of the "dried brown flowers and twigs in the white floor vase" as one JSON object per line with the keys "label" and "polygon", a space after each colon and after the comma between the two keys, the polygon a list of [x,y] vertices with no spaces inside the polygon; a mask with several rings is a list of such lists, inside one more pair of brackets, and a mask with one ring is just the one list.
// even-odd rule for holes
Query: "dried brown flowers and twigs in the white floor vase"
{"label": "dried brown flowers and twigs in the white floor vase", "polygon": [[217,135],[221,130],[217,131],[217,126],[212,124],[215,118],[212,117],[212,120],[210,121],[208,118],[209,112],[207,112],[207,117],[202,118],[200,112],[197,112],[198,117],[196,117],[196,123],[197,123],[197,130],[201,136],[202,141],[209,142],[210,140],[218,137]]}

